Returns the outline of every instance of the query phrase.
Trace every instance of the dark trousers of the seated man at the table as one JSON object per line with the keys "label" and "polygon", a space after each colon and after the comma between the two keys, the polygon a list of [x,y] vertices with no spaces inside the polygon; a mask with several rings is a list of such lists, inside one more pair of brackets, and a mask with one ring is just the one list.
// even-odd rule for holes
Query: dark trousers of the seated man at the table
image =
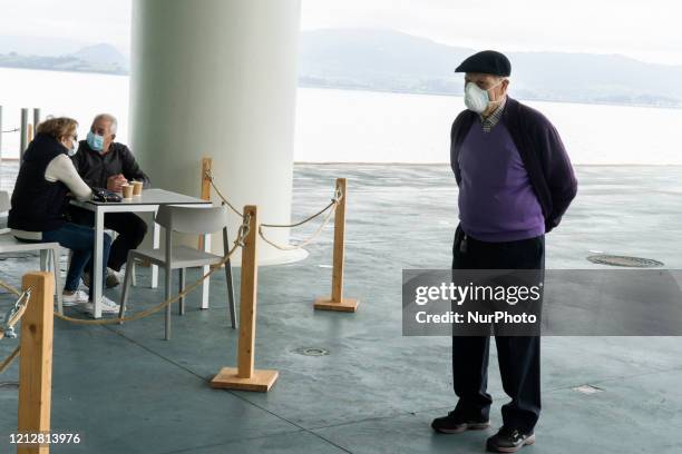
{"label": "dark trousers of the seated man at the table", "polygon": [[[95,214],[87,209],[71,206],[69,215],[72,223],[89,227],[95,225]],[[105,227],[118,234],[118,237],[111,243],[107,266],[119,272],[128,259],[128,250],[136,249],[145,239],[147,224],[133,213],[107,213]]]}

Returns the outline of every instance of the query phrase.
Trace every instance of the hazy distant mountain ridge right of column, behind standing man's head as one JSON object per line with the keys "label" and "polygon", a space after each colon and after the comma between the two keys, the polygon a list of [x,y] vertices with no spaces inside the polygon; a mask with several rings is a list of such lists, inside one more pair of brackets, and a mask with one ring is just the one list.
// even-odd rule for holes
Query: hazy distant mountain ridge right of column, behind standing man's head
{"label": "hazy distant mountain ridge right of column, behind standing man's head", "polygon": [[[392,30],[328,29],[301,36],[300,82],[311,87],[461,93],[455,67],[474,49]],[[682,107],[682,66],[617,55],[506,52],[522,99]]]}

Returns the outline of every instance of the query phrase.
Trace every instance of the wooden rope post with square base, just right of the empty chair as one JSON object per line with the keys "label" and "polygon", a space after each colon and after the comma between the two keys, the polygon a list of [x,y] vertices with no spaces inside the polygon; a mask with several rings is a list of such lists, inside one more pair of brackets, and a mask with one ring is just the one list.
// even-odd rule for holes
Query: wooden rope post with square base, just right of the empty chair
{"label": "wooden rope post with square base, just right of the empty chair", "polygon": [[277,379],[279,373],[277,371],[254,369],[256,296],[259,289],[259,266],[256,261],[257,208],[253,205],[245,206],[244,217],[249,217],[249,234],[242,249],[237,367],[223,367],[211,381],[211,387],[267,392]]}

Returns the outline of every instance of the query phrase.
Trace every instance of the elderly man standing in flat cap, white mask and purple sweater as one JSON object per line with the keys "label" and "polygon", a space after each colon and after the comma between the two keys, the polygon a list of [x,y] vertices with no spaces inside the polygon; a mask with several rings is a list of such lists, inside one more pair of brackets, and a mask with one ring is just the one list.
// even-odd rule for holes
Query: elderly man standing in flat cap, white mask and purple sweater
{"label": "elderly man standing in flat cap, white mask and purple sweater", "polygon": [[[545,234],[577,191],[568,155],[540,112],[507,96],[512,65],[487,50],[467,58],[465,103],[450,134],[450,164],[459,187],[454,269],[544,269]],[[496,336],[503,387],[512,401],[491,452],[514,453],[535,442],[540,413],[540,339]],[[433,420],[440,433],[489,426],[489,337],[452,337],[452,374],[459,401]]]}

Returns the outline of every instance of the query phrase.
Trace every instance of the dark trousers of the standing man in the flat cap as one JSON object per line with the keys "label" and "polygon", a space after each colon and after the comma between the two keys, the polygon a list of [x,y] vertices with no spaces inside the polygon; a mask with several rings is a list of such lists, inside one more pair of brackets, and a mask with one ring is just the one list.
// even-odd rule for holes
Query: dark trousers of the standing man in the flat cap
{"label": "dark trousers of the standing man in the flat cap", "polygon": [[[460,227],[452,245],[454,269],[544,269],[545,237],[507,243],[478,241]],[[538,336],[495,336],[503,388],[512,402],[501,408],[505,426],[532,432],[540,413],[540,339]],[[452,337],[452,377],[459,397],[456,413],[488,418],[489,336]]]}

